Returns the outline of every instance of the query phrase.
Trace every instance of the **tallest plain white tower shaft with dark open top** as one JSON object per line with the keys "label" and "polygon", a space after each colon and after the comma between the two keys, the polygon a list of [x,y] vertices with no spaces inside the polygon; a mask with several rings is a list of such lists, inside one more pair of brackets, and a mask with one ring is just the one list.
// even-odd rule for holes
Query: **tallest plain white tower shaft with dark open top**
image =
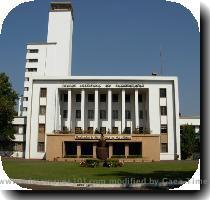
{"label": "tallest plain white tower shaft with dark open top", "polygon": [[[47,43],[56,43],[55,63],[47,65],[48,75],[52,72],[71,76],[73,35],[73,8],[70,2],[52,2],[49,12]],[[49,69],[48,69],[49,68]],[[56,73],[55,73],[56,72]]]}

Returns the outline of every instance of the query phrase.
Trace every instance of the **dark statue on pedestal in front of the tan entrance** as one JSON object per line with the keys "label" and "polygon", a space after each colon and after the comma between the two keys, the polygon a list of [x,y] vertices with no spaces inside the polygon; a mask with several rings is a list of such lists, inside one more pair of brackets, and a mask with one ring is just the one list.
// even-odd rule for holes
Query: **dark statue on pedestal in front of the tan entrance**
{"label": "dark statue on pedestal in front of the tan entrance", "polygon": [[106,147],[106,139],[103,133],[101,133],[101,138],[96,147],[96,155],[101,160],[106,160],[109,157],[109,148]]}

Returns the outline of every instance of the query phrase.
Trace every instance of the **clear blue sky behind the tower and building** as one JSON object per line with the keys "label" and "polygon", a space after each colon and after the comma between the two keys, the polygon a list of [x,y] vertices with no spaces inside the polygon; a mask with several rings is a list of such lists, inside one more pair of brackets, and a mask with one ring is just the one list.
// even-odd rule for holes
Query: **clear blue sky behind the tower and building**
{"label": "clear blue sky behind the tower and building", "polygon": [[[51,0],[13,9],[0,35],[0,72],[23,94],[26,44],[46,42]],[[179,79],[180,112],[200,115],[200,33],[193,15],[164,0],[72,0],[72,75]],[[162,59],[160,58],[160,50]]]}

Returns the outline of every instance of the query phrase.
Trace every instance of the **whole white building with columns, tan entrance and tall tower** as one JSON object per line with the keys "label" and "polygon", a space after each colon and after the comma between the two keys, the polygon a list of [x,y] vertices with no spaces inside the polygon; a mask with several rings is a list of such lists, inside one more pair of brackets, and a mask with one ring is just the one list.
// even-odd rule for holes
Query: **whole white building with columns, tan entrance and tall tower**
{"label": "whole white building with columns, tan entrance and tall tower", "polygon": [[27,45],[21,156],[95,158],[104,133],[109,157],[180,159],[177,77],[71,76],[72,13],[69,2],[51,3],[47,43]]}

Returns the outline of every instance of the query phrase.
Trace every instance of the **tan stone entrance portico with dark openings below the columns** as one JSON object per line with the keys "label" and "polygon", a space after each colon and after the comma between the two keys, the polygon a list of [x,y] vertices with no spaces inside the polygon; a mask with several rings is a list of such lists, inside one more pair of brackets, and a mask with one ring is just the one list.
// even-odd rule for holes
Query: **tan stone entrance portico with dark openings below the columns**
{"label": "tan stone entrance portico with dark openings below the columns", "polygon": [[[92,139],[90,139],[92,138]],[[96,158],[96,146],[100,135],[48,134],[46,159],[80,161],[84,158]],[[109,158],[133,160],[160,160],[158,135],[105,136],[109,148]],[[151,148],[152,147],[152,148]]]}

